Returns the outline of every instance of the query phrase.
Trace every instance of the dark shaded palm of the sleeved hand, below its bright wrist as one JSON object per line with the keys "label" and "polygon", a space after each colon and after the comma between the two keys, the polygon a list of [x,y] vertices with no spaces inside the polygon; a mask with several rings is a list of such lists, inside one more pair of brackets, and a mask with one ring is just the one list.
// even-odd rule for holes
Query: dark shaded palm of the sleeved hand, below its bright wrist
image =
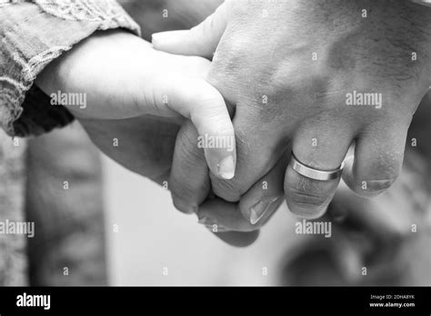
{"label": "dark shaded palm of the sleeved hand, below its bright wrist", "polygon": [[126,169],[163,185],[169,180],[176,133],[175,118],[142,115],[122,120],[81,120],[93,143]]}

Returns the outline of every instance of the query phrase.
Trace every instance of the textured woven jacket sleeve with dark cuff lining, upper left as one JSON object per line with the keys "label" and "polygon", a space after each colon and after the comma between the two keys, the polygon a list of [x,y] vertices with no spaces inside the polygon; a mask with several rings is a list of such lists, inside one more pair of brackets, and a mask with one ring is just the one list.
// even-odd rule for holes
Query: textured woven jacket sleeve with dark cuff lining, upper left
{"label": "textured woven jacket sleeve with dark cuff lining, upper left", "polygon": [[115,0],[0,0],[0,128],[27,136],[71,122],[64,107],[42,104],[35,77],[74,44],[114,28],[140,35]]}

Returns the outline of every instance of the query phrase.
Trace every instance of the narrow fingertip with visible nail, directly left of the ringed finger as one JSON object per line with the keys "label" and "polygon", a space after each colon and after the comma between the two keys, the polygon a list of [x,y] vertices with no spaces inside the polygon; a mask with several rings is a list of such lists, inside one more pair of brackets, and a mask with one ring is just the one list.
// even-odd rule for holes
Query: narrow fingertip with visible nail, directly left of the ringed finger
{"label": "narrow fingertip with visible nail, directly left of the ringed finger", "polygon": [[283,154],[276,166],[241,196],[240,212],[256,228],[265,224],[285,200],[283,183],[288,158],[287,153]]}

